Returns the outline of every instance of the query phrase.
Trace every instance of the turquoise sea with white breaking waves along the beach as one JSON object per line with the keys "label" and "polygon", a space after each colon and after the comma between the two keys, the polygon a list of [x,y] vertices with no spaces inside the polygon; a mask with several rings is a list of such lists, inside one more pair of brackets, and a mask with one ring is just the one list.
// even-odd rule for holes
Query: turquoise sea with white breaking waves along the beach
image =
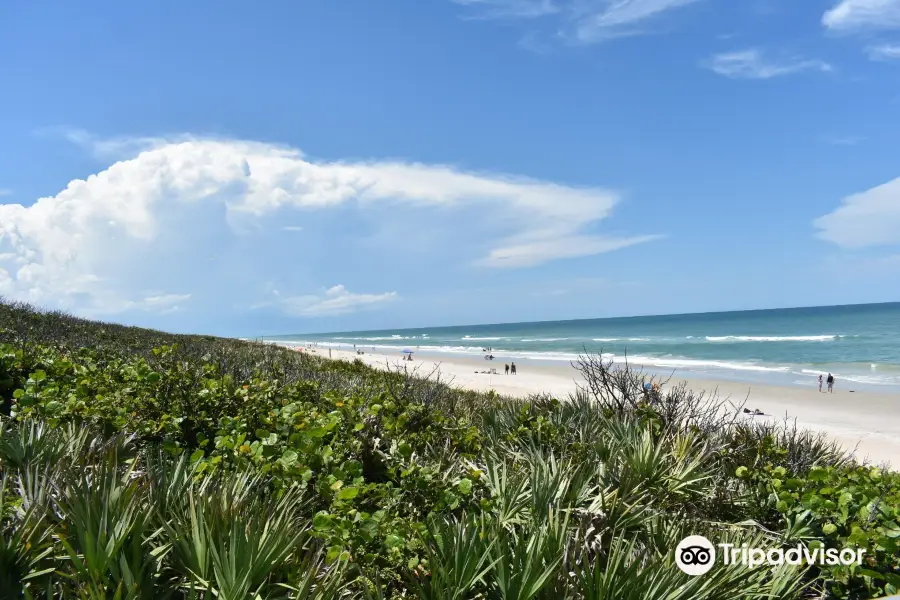
{"label": "turquoise sea with white breaking waves along the beach", "polygon": [[812,385],[833,373],[855,389],[900,391],[900,303],[386,329],[267,338],[286,343],[499,360],[571,361],[603,352],[657,372]]}

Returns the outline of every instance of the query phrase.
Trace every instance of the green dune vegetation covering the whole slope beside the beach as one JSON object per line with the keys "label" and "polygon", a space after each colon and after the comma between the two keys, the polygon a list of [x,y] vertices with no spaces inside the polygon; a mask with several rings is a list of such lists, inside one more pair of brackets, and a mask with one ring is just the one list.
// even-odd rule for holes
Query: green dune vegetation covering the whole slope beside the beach
{"label": "green dune vegetation covering the whole slope beside the beach", "polygon": [[[0,597],[873,598],[900,476],[585,356],[513,400],[0,304]],[[687,535],[862,565],[691,577]]]}

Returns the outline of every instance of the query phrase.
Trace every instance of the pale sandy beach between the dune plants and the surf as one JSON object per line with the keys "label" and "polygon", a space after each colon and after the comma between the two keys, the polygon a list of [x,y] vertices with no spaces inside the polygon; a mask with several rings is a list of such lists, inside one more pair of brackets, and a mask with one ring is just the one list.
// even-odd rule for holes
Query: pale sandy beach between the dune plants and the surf
{"label": "pale sandy beach between the dune plants and the surf", "polygon": [[[305,350],[308,351],[308,350]],[[328,357],[329,349],[314,350]],[[516,361],[518,373],[505,375],[503,360],[485,361],[467,356],[420,356],[403,362],[397,352],[366,351],[357,355],[352,351],[331,350],[336,360],[360,359],[379,368],[405,365],[422,375],[434,373],[441,380],[456,387],[472,390],[494,390],[498,394],[522,397],[535,393],[566,396],[577,388],[580,374],[568,364],[553,365],[535,361]],[[497,375],[481,373],[491,368]],[[675,385],[686,381],[695,391],[716,391],[735,405],[759,409],[765,416],[753,419],[795,420],[801,428],[822,431],[848,450],[856,450],[860,460],[890,463],[900,466],[900,394],[851,392],[838,381],[833,394],[819,393],[815,387],[775,386],[737,383],[696,378],[680,378],[676,373],[669,382]]]}

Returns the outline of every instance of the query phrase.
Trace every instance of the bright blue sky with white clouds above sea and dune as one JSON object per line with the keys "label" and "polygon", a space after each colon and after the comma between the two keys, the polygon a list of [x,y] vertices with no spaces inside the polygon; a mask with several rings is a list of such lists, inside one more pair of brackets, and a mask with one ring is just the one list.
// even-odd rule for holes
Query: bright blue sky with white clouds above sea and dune
{"label": "bright blue sky with white clouds above sea and dune", "polygon": [[900,295],[900,0],[5,3],[0,294],[231,335]]}

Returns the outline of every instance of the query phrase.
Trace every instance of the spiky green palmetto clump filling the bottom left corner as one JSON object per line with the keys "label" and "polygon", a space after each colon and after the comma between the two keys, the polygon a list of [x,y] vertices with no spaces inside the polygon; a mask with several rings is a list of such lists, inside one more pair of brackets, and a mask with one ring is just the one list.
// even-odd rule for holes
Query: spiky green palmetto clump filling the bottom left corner
{"label": "spiky green palmetto clump filling the bottom left corner", "polygon": [[[123,460],[127,440],[78,445],[82,434],[68,433],[76,439],[52,447],[92,447],[92,460],[48,464],[43,435],[0,455],[0,597],[326,598],[342,583],[340,569],[303,548],[297,486],[276,491],[251,472],[198,477],[183,458]],[[25,466],[6,467],[23,455],[15,464]]]}

